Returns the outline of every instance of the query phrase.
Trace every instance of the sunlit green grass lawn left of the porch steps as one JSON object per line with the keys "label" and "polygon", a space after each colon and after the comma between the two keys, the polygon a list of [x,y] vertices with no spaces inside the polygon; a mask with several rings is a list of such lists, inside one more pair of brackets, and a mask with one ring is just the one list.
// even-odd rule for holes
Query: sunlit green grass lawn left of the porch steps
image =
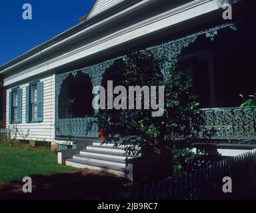
{"label": "sunlit green grass lawn left of the porch steps", "polygon": [[35,174],[71,172],[75,168],[57,164],[57,154],[38,148],[0,143],[0,184]]}

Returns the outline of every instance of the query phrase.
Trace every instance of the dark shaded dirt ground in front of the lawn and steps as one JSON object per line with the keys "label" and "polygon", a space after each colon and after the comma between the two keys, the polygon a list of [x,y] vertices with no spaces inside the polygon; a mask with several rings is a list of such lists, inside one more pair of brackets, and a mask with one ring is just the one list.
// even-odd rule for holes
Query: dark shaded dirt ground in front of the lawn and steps
{"label": "dark shaded dirt ground in front of the lawn and steps", "polygon": [[0,185],[0,199],[104,199],[125,189],[129,180],[97,170],[32,176],[32,193],[23,193],[23,182]]}

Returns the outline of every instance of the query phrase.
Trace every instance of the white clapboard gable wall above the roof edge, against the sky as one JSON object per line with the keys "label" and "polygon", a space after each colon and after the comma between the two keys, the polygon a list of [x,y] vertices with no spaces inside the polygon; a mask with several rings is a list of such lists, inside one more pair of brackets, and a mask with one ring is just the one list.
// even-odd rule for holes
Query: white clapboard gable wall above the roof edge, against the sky
{"label": "white clapboard gable wall above the roof edge, against the sky", "polygon": [[102,13],[103,11],[117,5],[118,3],[121,3],[122,1],[124,0],[97,0],[91,13],[89,13],[89,18]]}

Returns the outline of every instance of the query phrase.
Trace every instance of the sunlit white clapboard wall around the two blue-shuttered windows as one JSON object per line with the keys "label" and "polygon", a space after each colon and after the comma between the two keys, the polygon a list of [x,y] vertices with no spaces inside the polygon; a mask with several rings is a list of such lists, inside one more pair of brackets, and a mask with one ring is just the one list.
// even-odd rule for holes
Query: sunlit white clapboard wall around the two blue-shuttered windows
{"label": "sunlit white clapboard wall around the two blue-shuttered windows", "polygon": [[[23,85],[19,85],[22,89],[22,122],[17,124],[17,128],[24,134],[29,129],[29,136],[27,140],[46,140],[54,141],[54,75],[50,75],[43,79],[39,79],[43,82],[43,122],[27,123],[25,122],[25,106],[26,106],[26,87],[29,82]],[[9,124],[9,92],[11,88],[7,89],[7,126]],[[16,125],[16,124],[13,124]],[[17,136],[17,139],[22,139],[21,136]]]}

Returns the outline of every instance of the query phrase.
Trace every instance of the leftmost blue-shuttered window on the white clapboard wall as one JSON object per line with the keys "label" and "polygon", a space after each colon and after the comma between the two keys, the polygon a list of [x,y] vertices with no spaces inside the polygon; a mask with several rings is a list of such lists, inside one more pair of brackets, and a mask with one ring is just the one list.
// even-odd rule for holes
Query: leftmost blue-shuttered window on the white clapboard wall
{"label": "leftmost blue-shuttered window on the white clapboard wall", "polygon": [[19,123],[21,122],[21,89],[12,89],[9,93],[9,122]]}

